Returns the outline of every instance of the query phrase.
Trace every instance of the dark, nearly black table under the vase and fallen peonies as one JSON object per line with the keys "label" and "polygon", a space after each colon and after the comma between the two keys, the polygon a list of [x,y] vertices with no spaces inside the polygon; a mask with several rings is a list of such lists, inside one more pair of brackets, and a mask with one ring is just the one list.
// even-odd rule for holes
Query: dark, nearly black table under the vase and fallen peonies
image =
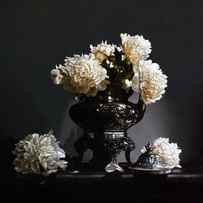
{"label": "dark, nearly black table under the vase and fallen peonies", "polygon": [[[9,198],[32,200],[134,200],[135,202],[203,202],[203,168],[183,168],[170,174],[126,170],[64,172],[46,179],[16,175],[7,185]],[[199,200],[198,200],[199,199]]]}

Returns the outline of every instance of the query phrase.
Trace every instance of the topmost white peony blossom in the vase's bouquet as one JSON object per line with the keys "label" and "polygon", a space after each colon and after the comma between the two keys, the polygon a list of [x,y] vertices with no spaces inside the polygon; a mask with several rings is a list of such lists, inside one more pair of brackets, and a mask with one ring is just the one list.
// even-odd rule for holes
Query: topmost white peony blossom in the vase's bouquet
{"label": "topmost white peony blossom in the vase's bouquet", "polygon": [[138,64],[140,60],[145,60],[151,53],[151,43],[143,36],[120,34],[122,50],[133,64]]}

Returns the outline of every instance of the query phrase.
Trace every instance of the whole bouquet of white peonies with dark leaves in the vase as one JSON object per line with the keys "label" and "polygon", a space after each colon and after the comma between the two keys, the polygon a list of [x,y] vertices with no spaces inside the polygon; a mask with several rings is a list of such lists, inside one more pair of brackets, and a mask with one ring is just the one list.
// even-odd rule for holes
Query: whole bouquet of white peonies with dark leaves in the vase
{"label": "whole bouquet of white peonies with dark leaves in the vase", "polygon": [[118,46],[104,41],[90,45],[88,55],[66,57],[63,65],[51,71],[54,84],[88,97],[116,86],[126,92],[136,91],[145,104],[161,99],[167,76],[157,63],[148,60],[151,43],[139,35],[120,37]]}

